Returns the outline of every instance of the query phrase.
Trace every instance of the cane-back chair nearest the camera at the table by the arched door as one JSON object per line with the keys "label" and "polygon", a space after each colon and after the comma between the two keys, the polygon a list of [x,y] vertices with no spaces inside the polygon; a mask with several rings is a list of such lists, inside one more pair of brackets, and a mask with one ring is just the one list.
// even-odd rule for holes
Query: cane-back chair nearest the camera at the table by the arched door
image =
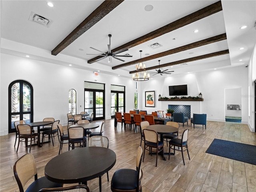
{"label": "cane-back chair nearest the camera at the table by the arched door", "polygon": [[32,127],[30,125],[26,125],[26,124],[19,124],[17,125],[17,129],[18,129],[18,147],[16,152],[18,152],[18,148],[20,145],[20,142],[25,142],[25,145],[28,146],[28,139],[30,139],[30,148],[29,148],[29,152],[31,151],[31,146],[32,146],[32,139],[37,139],[39,142],[38,138],[38,133],[34,133],[32,132]]}

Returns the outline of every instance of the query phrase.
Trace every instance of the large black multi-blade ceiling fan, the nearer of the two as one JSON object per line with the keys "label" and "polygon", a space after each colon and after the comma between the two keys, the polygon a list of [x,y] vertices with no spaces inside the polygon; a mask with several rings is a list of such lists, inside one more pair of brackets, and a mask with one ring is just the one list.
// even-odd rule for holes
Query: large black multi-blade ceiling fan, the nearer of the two
{"label": "large black multi-blade ceiling fan, the nearer of the two", "polygon": [[118,59],[118,60],[124,62],[124,60],[122,60],[122,59],[120,59],[120,58],[118,58],[118,57],[132,57],[132,55],[129,55],[129,54],[117,55],[118,53],[122,53],[122,52],[124,52],[124,51],[127,51],[128,49],[126,49],[126,50],[120,50],[120,51],[116,51],[116,52],[112,53],[111,48],[110,48],[110,38],[112,37],[112,35],[109,34],[108,36],[109,36],[109,45],[108,45],[108,52],[107,52],[107,53],[104,53],[104,52],[102,52],[102,51],[100,51],[100,50],[98,50],[98,49],[95,49],[95,48],[93,48],[93,47],[90,47],[91,49],[94,49],[94,50],[96,50],[96,51],[102,52],[102,54],[87,54],[87,55],[103,56],[103,57],[100,58],[99,60],[102,60],[102,59],[104,59],[104,58],[109,58],[109,63],[112,63],[112,58],[115,58],[115,59]]}

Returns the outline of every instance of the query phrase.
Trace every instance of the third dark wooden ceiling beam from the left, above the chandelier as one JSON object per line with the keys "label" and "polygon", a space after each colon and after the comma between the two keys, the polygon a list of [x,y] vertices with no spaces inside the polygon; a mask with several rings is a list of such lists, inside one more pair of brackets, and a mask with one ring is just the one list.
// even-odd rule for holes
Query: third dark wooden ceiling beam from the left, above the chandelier
{"label": "third dark wooden ceiling beam from the left, above the chandelier", "polygon": [[210,37],[210,38],[207,38],[207,39],[204,39],[204,40],[200,40],[200,41],[197,41],[197,42],[194,42],[194,43],[190,43],[188,45],[180,46],[180,47],[177,47],[177,48],[174,48],[174,49],[171,49],[171,50],[168,50],[168,51],[164,51],[164,52],[161,52],[161,53],[158,53],[158,54],[154,54],[154,55],[151,55],[151,56],[148,56],[148,57],[144,57],[144,58],[137,59],[137,60],[134,60],[134,61],[131,61],[131,62],[120,64],[120,65],[112,67],[112,69],[114,70],[114,69],[122,68],[122,67],[125,67],[125,66],[129,66],[129,65],[132,65],[132,64],[136,64],[136,63],[139,63],[139,62],[145,62],[145,61],[148,61],[148,60],[164,57],[164,56],[167,56],[167,55],[170,55],[170,54],[174,54],[174,53],[189,50],[189,49],[192,49],[192,48],[200,47],[200,46],[203,46],[203,45],[215,43],[215,42],[222,41],[222,40],[225,40],[225,39],[227,39],[226,33],[220,34],[220,35],[217,35],[217,36],[214,36],[214,37]]}

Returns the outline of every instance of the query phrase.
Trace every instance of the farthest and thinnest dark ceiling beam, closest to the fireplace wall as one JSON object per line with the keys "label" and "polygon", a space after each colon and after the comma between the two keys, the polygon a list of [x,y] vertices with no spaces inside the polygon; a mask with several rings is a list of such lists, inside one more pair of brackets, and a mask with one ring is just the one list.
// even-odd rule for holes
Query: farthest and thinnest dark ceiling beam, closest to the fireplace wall
{"label": "farthest and thinnest dark ceiling beam, closest to the fireplace wall", "polygon": [[[172,65],[192,62],[192,61],[196,61],[196,60],[206,59],[206,58],[210,58],[210,57],[216,57],[216,56],[225,55],[225,54],[229,54],[229,51],[228,50],[223,50],[223,51],[218,51],[218,52],[214,52],[214,53],[210,53],[210,54],[206,54],[206,55],[201,55],[201,56],[197,56],[197,57],[192,57],[192,58],[188,58],[188,59],[174,61],[174,62],[170,62],[170,63],[158,65],[158,66],[148,67],[148,68],[146,68],[146,70],[148,71],[148,70],[152,70],[152,69],[168,67],[168,66],[172,66]],[[130,71],[130,74],[136,73],[136,72],[138,72],[138,71],[136,71],[136,70]]]}

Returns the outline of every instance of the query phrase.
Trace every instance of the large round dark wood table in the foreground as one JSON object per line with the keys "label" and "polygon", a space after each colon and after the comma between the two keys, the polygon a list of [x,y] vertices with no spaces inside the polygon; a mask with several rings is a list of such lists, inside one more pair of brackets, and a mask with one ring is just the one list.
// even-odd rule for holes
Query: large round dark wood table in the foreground
{"label": "large round dark wood table in the foreground", "polygon": [[52,158],[44,168],[46,178],[57,183],[84,183],[108,172],[116,163],[114,151],[82,147]]}

